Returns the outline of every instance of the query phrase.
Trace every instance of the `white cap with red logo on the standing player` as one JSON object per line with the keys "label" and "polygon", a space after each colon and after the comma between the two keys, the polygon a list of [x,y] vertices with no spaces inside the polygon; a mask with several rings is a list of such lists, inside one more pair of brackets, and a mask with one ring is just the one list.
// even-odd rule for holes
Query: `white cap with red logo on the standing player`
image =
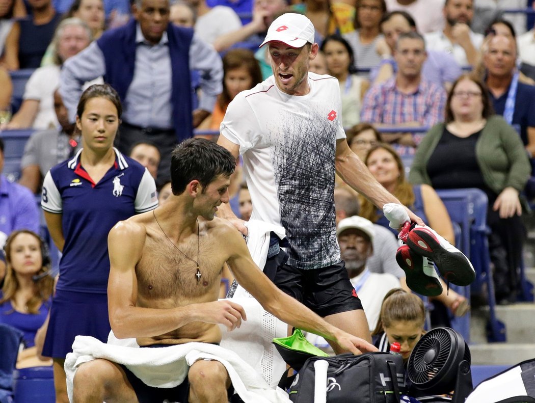
{"label": "white cap with red logo on the standing player", "polygon": [[271,41],[280,41],[292,48],[301,48],[307,42],[314,44],[314,25],[303,14],[282,14],[271,23],[259,48]]}

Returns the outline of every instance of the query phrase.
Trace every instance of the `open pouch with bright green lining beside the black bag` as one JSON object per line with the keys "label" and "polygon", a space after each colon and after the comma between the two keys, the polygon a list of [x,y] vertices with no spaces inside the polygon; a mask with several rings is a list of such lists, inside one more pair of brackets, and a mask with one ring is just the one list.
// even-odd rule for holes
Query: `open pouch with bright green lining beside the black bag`
{"label": "open pouch with bright green lining beside the black bag", "polygon": [[327,353],[323,352],[318,347],[310,343],[310,341],[305,339],[303,333],[299,329],[295,329],[292,333],[292,336],[273,339],[272,343],[277,348],[277,351],[282,356],[282,359],[284,359],[284,361],[286,361],[286,363],[296,371],[299,371],[304,362],[310,357],[329,356]]}

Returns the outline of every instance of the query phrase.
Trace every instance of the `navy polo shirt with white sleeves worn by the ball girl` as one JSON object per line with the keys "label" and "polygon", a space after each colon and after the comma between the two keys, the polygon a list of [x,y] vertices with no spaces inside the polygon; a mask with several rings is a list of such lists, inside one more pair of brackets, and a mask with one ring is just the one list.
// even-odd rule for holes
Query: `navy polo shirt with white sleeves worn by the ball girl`
{"label": "navy polo shirt with white sleeves worn by the ball girl", "polygon": [[114,165],[95,184],[80,164],[81,151],[47,173],[41,207],[62,214],[65,246],[57,289],[106,293],[108,233],[118,221],[156,208],[156,185],[146,168],[117,149]]}

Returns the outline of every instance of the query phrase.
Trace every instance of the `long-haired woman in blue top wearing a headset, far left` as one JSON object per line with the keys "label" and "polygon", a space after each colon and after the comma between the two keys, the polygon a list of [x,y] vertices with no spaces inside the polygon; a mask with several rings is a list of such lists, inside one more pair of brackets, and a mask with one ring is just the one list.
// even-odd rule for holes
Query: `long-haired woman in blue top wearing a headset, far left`
{"label": "long-haired woman in blue top wearing a headset, far left", "polygon": [[4,246],[6,276],[0,291],[0,323],[24,333],[24,349],[17,367],[50,365],[37,356],[34,338],[50,309],[53,278],[47,273],[50,260],[43,256],[43,241],[35,232],[14,231]]}

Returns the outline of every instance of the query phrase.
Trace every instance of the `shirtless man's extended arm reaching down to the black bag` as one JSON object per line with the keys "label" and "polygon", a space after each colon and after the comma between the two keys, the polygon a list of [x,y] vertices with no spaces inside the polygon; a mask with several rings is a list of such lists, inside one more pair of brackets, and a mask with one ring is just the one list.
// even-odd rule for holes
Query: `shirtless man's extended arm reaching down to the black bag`
{"label": "shirtless man's extended arm reaching down to the black bag", "polygon": [[333,340],[351,353],[377,351],[376,347],[368,341],[352,336],[327,323],[302,303],[280,291],[258,269],[249,254],[246,243],[232,224],[224,220],[223,223],[226,226],[223,229],[225,235],[219,239],[223,242],[223,250],[230,251],[228,266],[238,283],[249,291],[266,311],[278,317],[282,322]]}

